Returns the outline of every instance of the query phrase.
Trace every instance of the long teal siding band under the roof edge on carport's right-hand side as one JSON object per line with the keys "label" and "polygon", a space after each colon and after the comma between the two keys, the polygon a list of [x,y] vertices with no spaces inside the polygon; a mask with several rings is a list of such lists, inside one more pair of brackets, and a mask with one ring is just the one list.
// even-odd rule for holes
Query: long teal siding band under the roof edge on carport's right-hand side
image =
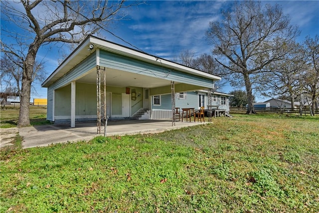
{"label": "long teal siding band under the roof edge on carport's right-hand side", "polygon": [[103,50],[100,51],[100,65],[124,70],[127,72],[143,74],[170,81],[203,86],[207,88],[210,88],[213,85],[212,79],[191,75],[176,70],[170,70],[165,67],[149,64],[136,59],[126,58]]}

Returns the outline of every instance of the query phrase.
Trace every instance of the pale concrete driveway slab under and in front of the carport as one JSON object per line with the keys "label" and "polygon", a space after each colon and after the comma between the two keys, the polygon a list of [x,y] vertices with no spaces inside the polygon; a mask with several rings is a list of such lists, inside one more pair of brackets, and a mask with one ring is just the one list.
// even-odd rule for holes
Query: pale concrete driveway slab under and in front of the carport
{"label": "pale concrete driveway slab under and in front of the carport", "polygon": [[[168,120],[113,120],[108,121],[106,130],[107,136],[133,135],[146,133],[159,133],[166,130],[179,129],[187,126],[204,124],[200,122],[175,122],[171,126]],[[41,147],[55,143],[88,141],[98,136],[97,124],[76,123],[75,128],[70,124],[52,124],[41,126],[30,126],[19,128],[19,135],[22,136],[22,147]]]}

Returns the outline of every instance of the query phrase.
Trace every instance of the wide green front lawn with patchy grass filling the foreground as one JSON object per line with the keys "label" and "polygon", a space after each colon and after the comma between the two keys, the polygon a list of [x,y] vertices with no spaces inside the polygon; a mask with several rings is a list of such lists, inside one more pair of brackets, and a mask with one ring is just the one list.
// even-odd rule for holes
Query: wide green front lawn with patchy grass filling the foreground
{"label": "wide green front lawn with patchy grass filling the foreground", "polygon": [[0,212],[319,212],[319,117],[12,149],[0,169]]}

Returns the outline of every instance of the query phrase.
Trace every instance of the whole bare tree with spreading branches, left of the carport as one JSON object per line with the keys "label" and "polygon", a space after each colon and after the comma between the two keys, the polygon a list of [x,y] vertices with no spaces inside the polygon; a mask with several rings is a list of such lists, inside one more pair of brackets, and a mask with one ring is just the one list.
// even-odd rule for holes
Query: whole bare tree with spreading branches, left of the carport
{"label": "whole bare tree with spreading branches, left of the carport", "polygon": [[18,58],[22,66],[18,126],[30,125],[32,74],[39,48],[52,42],[79,43],[101,29],[108,31],[113,20],[125,17],[122,10],[132,5],[136,3],[124,0],[1,1],[1,18],[19,29],[11,32],[1,26],[1,51]]}

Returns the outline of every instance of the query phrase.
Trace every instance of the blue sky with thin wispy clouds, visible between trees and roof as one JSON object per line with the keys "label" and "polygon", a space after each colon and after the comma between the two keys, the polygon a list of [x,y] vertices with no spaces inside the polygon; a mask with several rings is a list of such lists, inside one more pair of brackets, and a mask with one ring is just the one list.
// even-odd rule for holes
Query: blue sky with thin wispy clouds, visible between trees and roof
{"label": "blue sky with thin wispy clouds, visible between trees and roof", "polygon": [[[129,2],[130,3],[130,2]],[[195,56],[210,53],[212,46],[205,39],[209,22],[220,20],[220,11],[231,6],[233,1],[147,1],[129,8],[125,19],[116,21],[109,29],[125,41],[149,54],[174,60],[182,50],[192,50]],[[282,5],[285,14],[291,17],[291,24],[298,25],[302,42],[307,35],[319,34],[319,1],[262,1],[262,3]],[[2,22],[1,22],[2,25]],[[1,26],[2,27],[2,26]],[[130,46],[128,43],[102,32],[105,39]],[[2,36],[1,36],[2,39]],[[48,75],[58,66],[58,58],[70,53],[68,48],[58,51],[56,46],[44,46],[38,52],[38,59],[45,57]],[[46,88],[34,84],[37,95],[32,98],[46,98]],[[225,86],[220,90],[233,90]],[[260,99],[258,100],[260,101]]]}

